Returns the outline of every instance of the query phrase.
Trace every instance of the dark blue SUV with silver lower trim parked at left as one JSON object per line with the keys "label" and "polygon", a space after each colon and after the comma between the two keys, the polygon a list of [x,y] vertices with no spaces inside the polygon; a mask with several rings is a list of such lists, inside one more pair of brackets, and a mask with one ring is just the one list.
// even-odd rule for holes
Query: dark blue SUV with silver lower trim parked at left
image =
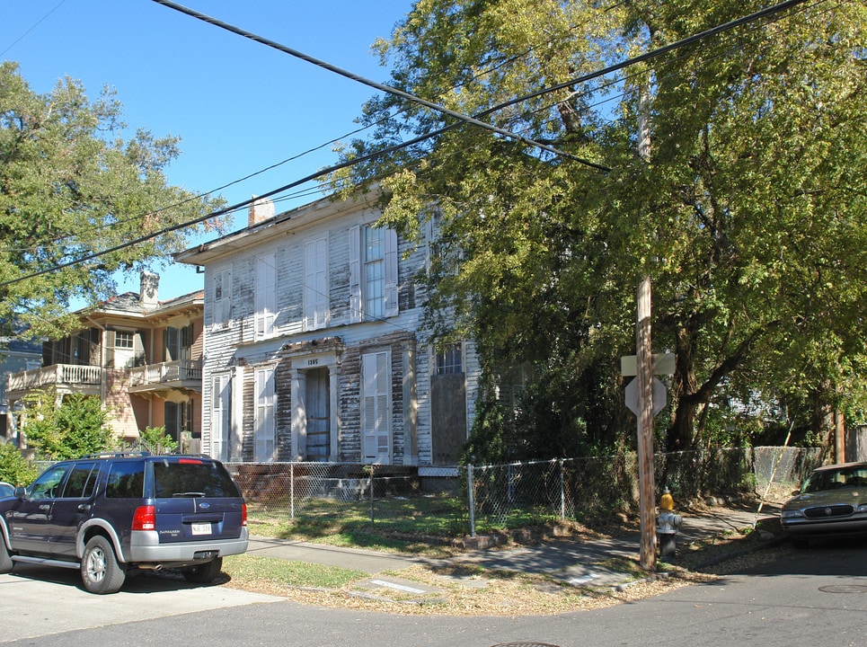
{"label": "dark blue SUV with silver lower trim parked at left", "polygon": [[208,456],[84,456],[0,498],[0,573],[15,562],[79,569],[92,593],[142,570],[213,581],[247,536],[241,492]]}

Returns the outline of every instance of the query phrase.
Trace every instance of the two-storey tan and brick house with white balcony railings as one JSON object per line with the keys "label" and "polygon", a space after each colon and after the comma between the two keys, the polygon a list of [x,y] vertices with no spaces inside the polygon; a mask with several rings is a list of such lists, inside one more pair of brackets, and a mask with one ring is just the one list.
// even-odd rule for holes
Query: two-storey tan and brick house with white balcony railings
{"label": "two-storey tan and brick house with white balcony railings", "polygon": [[35,391],[97,395],[111,411],[119,439],[134,443],[139,431],[165,426],[185,449],[199,452],[201,421],[201,290],[159,301],[159,277],[144,272],[141,292],[112,297],[81,310],[82,328],[46,341],[41,368],[7,379],[8,425],[16,433],[16,402]]}

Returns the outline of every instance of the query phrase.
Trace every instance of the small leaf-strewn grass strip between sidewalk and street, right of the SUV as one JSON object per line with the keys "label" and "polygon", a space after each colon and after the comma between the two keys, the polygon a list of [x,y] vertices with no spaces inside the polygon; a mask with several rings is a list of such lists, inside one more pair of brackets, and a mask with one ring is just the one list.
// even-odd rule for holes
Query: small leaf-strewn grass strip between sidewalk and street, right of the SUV
{"label": "small leaf-strewn grass strip between sidewalk and street, right of the SUV", "polygon": [[339,566],[292,562],[248,554],[230,555],[223,560],[223,571],[237,584],[270,582],[292,587],[340,589],[349,582],[367,577],[366,572]]}

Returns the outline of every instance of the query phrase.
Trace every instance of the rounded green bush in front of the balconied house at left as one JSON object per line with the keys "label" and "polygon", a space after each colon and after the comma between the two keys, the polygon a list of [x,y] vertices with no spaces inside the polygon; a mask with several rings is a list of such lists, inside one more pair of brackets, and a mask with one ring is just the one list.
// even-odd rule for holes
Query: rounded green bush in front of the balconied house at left
{"label": "rounded green bush in front of the balconied house at left", "polygon": [[42,391],[25,402],[21,431],[41,459],[66,460],[113,447],[109,412],[98,397],[71,394],[58,405],[53,393]]}

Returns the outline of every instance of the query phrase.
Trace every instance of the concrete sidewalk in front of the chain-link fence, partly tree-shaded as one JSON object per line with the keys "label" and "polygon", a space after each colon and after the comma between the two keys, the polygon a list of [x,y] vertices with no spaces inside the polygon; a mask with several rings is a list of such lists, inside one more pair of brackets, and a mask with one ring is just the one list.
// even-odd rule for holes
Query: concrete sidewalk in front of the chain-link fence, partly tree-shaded
{"label": "concrete sidewalk in front of the chain-link fence, partly tree-shaded", "polygon": [[[761,514],[756,510],[732,507],[681,514],[684,523],[677,536],[677,545],[686,546],[756,527],[762,519],[778,518],[779,509],[765,504]],[[629,579],[628,575],[607,569],[602,563],[612,558],[637,559],[640,546],[641,536],[635,532],[623,536],[599,536],[589,541],[564,538],[537,545],[474,550],[440,560],[254,536],[247,553],[340,566],[371,575],[400,571],[413,564],[475,565],[485,569],[548,575],[575,586],[616,586]]]}

